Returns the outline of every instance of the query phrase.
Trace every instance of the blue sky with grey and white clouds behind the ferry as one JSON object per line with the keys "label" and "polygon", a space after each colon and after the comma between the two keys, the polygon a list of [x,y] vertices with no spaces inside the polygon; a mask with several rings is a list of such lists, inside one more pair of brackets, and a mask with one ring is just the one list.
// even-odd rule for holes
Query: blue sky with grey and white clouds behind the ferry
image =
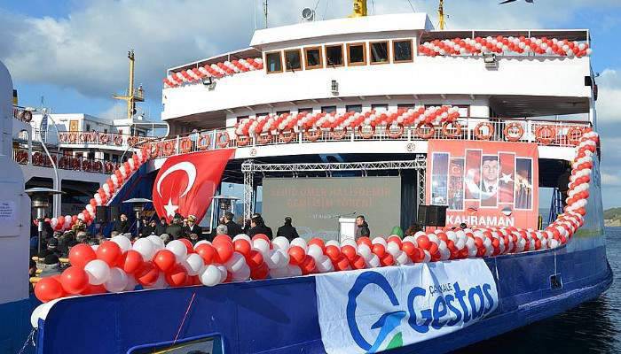
{"label": "blue sky with grey and white clouds behind the ferry", "polygon": [[[597,128],[601,133],[603,203],[621,206],[621,33],[619,0],[445,0],[448,29],[588,28],[597,78]],[[52,112],[122,116],[110,96],[127,86],[127,51],[137,58],[136,80],[145,87],[142,109],[161,112],[166,69],[248,47],[263,27],[262,0],[0,0],[0,60],[12,73],[20,104]],[[300,21],[304,7],[317,19],[351,12],[350,0],[270,0],[270,27]],[[373,14],[428,12],[436,0],[369,0]]]}

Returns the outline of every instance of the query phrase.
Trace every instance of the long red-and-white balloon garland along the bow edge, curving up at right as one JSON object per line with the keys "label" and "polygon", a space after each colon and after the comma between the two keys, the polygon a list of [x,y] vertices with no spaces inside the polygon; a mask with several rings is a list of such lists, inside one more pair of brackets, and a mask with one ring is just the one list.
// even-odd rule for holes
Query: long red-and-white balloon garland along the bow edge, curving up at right
{"label": "long red-and-white balloon garland along the bow edge, curving up at right", "polygon": [[487,258],[531,250],[555,249],[569,242],[584,223],[593,158],[599,136],[587,131],[572,162],[568,206],[543,230],[482,227],[436,230],[388,238],[361,237],[357,242],[313,238],[273,241],[266,235],[218,235],[193,245],[185,239],[167,245],[158,236],[133,244],[122,235],[98,246],[81,243],[69,251],[71,266],[43,278],[35,296],[48,302],[62,296],[191,285],[216,286],[230,281],[284,278],[380,266],[406,266],[448,259]]}

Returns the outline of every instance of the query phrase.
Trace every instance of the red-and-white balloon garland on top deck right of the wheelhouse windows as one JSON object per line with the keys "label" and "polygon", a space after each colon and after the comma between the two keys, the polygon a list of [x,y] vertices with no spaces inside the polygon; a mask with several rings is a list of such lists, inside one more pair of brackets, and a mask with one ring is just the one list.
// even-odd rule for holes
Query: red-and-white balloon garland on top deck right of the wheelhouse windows
{"label": "red-and-white balloon garland on top deck right of the wheelhouse windows", "polygon": [[476,37],[475,39],[453,38],[423,42],[419,46],[419,52],[428,57],[481,55],[482,53],[524,54],[532,52],[581,58],[591,55],[593,50],[589,48],[589,43],[587,42],[572,42],[566,39],[558,40],[547,37],[527,38],[523,35],[519,37],[498,35],[496,37]]}

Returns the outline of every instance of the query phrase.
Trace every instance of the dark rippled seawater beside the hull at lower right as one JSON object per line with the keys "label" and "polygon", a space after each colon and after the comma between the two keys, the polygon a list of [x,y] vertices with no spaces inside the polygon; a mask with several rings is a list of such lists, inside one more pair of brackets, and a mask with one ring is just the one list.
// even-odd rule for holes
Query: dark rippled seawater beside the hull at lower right
{"label": "dark rippled seawater beside the hull at lower right", "polygon": [[603,295],[568,312],[452,354],[621,354],[621,227],[606,227],[606,238],[614,281]]}

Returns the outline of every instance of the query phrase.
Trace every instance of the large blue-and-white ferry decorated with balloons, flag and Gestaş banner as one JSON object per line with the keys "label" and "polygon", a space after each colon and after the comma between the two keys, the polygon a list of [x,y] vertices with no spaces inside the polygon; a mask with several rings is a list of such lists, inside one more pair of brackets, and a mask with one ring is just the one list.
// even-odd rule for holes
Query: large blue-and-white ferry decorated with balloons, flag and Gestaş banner
{"label": "large blue-and-white ferry decorated with balloons, flag and Gesta\u015f banner", "polygon": [[[4,321],[13,339],[3,345],[441,353],[600,296],[612,273],[590,44],[586,29],[436,30],[425,13],[367,16],[355,1],[350,18],[305,10],[300,23],[256,30],[247,49],[171,67],[168,136],[138,144],[80,218],[136,189],[161,217],[203,219],[210,206],[230,210],[235,185],[240,222],[290,216],[301,237],[170,242],[172,262],[186,265],[166,276],[153,270],[157,240],[113,240],[107,249],[153,257],[131,277],[143,287],[118,270],[111,281],[103,265],[84,272],[109,293],[42,290],[43,305],[24,281],[31,218],[4,104],[2,182],[13,187],[0,189],[0,312],[35,328]],[[1,79],[8,100],[4,69]],[[356,235],[357,216],[370,238]],[[193,266],[192,252],[207,263]]]}

